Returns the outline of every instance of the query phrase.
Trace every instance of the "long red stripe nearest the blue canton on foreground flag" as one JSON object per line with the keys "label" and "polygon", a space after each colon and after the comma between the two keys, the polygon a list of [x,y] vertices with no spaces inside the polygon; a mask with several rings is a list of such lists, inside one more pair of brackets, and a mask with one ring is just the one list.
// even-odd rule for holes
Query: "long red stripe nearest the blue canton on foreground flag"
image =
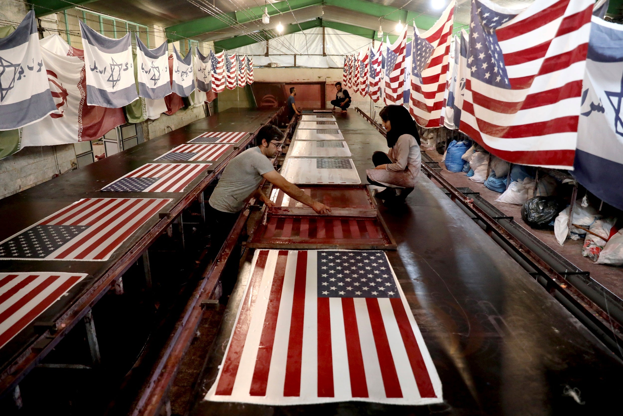
{"label": "long red stripe nearest the blue canton on foreground flag", "polygon": [[307,279],[307,251],[299,251],[294,279],[288,357],[285,363],[284,396],[298,396],[301,391],[301,364],[303,354],[303,317],[305,317],[305,281]]}

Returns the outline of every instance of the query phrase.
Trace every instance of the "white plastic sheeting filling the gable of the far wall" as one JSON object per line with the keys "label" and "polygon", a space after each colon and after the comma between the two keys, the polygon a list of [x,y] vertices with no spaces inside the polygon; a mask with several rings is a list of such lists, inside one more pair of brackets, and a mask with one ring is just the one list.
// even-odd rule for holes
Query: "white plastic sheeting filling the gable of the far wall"
{"label": "white plastic sheeting filling the gable of the far wall", "polygon": [[[325,27],[325,53],[327,56],[321,56],[322,27],[312,27],[312,29],[307,29],[303,32],[270,39],[269,56],[264,56],[266,53],[266,44],[264,42],[239,47],[234,49],[233,52],[252,55],[253,63],[256,67],[264,66],[270,62],[275,62],[280,66],[292,66],[294,65],[293,55],[296,54],[297,66],[343,68],[345,55],[367,50],[371,44],[372,39]],[[283,54],[290,55],[283,56]]]}

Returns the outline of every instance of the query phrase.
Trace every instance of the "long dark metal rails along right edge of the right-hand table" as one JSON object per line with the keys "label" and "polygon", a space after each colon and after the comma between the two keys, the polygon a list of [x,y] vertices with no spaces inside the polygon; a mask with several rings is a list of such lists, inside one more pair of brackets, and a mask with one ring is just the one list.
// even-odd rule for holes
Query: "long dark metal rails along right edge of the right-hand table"
{"label": "long dark metal rails along right edge of the right-hand table", "polygon": [[[355,107],[355,110],[379,133],[386,135],[379,123],[358,107]],[[623,302],[621,299],[590,279],[587,272],[581,271],[562,256],[554,253],[545,243],[515,223],[512,217],[505,216],[502,211],[497,210],[482,198],[480,200],[469,198],[442,177],[437,172],[439,167],[434,167],[435,164],[432,160],[423,161],[422,172],[439,182],[450,199],[461,206],[473,220],[476,220],[487,235],[500,244],[551,296],[578,318],[610,349],[612,354],[623,359]],[[477,193],[468,192],[468,195],[475,194]],[[561,270],[561,266],[568,267]],[[568,270],[568,268],[573,269]]]}

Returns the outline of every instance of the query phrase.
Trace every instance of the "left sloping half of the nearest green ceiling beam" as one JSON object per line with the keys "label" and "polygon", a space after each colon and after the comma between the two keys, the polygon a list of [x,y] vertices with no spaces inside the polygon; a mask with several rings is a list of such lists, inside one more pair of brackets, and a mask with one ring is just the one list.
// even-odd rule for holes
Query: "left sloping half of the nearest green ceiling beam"
{"label": "left sloping half of the nearest green ceiling beam", "polygon": [[[289,6],[288,2],[290,3]],[[258,16],[261,19],[262,14],[264,13],[264,7],[268,7],[269,16],[275,16],[278,15],[280,12],[289,13],[290,7],[292,7],[292,10],[297,10],[303,9],[304,7],[317,6],[318,4],[322,4],[322,2],[323,0],[278,1],[276,3],[273,3],[272,6],[267,5],[251,7],[250,9],[245,9],[245,12],[227,13],[227,17],[234,19],[238,23],[247,23],[250,21],[258,20],[255,18],[255,16]],[[222,22],[216,17],[206,16],[201,17],[201,19],[195,19],[192,21],[176,24],[174,26],[169,26],[166,27],[166,29],[164,30],[166,31],[166,37],[169,39],[169,42],[174,42],[179,41],[179,39],[183,39],[183,37],[199,36],[206,32],[218,31],[221,29],[226,29],[227,27],[230,27],[230,25]]]}

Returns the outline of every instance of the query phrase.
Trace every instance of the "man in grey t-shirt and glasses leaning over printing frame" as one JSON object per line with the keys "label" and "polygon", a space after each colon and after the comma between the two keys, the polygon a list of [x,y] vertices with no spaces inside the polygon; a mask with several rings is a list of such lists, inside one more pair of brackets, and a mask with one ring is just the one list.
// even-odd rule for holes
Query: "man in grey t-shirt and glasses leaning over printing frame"
{"label": "man in grey t-shirt and glasses leaning over printing frame", "polygon": [[283,133],[274,125],[260,128],[255,137],[256,147],[245,150],[234,157],[223,171],[218,185],[209,200],[206,218],[212,221],[212,247],[220,249],[229,231],[238,218],[240,210],[252,195],[258,197],[269,208],[275,204],[259,188],[262,178],[319,214],[328,214],[331,208],[313,200],[297,185],[283,178],[270,163],[282,148]]}

